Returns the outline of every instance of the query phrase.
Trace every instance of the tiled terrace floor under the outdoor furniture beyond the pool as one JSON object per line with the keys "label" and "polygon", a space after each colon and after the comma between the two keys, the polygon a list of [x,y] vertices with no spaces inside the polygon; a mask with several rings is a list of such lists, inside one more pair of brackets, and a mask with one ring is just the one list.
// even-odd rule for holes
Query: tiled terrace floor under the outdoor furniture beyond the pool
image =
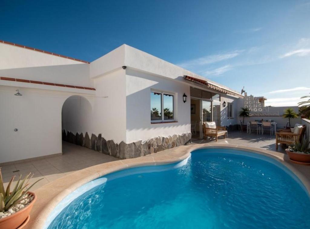
{"label": "tiled terrace floor under the outdoor furniture beyond the pool", "polygon": [[[192,140],[195,143],[208,143],[208,142],[215,142],[213,139],[207,140]],[[275,135],[269,134],[247,134],[246,132],[240,131],[228,131],[228,137],[224,139],[223,136],[219,137],[218,143],[221,144],[235,144],[235,145],[242,145],[242,146],[250,146],[255,148],[263,148],[267,150],[273,150],[281,153],[285,153],[285,148],[279,144],[278,150],[276,150],[276,137]]]}

